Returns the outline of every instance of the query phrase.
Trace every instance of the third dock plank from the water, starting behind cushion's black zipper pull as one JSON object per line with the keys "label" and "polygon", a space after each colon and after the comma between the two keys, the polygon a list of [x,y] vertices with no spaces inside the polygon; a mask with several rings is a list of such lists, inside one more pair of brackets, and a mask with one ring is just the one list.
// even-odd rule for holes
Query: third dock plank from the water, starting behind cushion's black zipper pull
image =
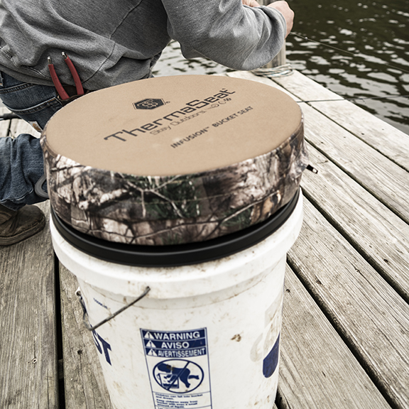
{"label": "third dock plank from the water, starting behind cushion's black zipper pull", "polygon": [[334,163],[309,147],[318,173],[305,172],[305,195],[409,302],[409,227]]}

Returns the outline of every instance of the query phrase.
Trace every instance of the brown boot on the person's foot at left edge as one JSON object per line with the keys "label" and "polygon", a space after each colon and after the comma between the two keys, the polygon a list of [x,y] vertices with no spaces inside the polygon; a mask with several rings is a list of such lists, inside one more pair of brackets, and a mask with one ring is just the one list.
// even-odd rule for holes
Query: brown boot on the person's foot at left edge
{"label": "brown boot on the person's foot at left edge", "polygon": [[18,243],[44,229],[45,216],[37,206],[8,209],[0,205],[0,246]]}

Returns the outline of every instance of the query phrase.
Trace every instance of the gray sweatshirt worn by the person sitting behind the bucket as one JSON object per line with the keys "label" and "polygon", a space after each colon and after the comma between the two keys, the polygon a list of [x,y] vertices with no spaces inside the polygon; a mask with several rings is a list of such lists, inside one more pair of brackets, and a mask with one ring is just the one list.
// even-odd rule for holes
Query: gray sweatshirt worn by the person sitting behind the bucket
{"label": "gray sweatshirt worn by the person sitting behind the bucket", "polygon": [[241,0],[0,0],[0,70],[34,84],[53,85],[48,56],[61,82],[74,84],[62,52],[86,89],[140,80],[172,38],[185,58],[252,70],[284,36],[279,11]]}

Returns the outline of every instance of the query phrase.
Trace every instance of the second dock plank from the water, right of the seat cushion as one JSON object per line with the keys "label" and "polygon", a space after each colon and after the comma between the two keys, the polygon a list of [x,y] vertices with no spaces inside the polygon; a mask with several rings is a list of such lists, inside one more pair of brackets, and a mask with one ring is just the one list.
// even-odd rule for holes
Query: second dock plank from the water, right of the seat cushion
{"label": "second dock plank from the water, right of the seat cushion", "polygon": [[[259,78],[250,73],[229,73],[230,76],[256,80],[264,84],[275,84],[266,78]],[[293,75],[290,76],[293,78]],[[307,80],[307,79],[306,79]],[[288,80],[288,84],[291,84]],[[321,87],[318,85],[318,87]],[[290,89],[290,87],[288,87]],[[321,87],[325,92],[325,88]],[[281,89],[279,87],[279,89]],[[282,89],[283,90],[283,89]],[[288,91],[287,91],[288,93]],[[297,97],[294,97],[297,99]],[[351,104],[348,102],[348,104]],[[322,107],[324,104],[320,104]],[[353,104],[352,104],[353,105]],[[356,107],[359,109],[359,107]],[[348,119],[336,124],[332,119],[320,114],[307,104],[302,105],[302,111],[305,116],[305,138],[312,143],[325,156],[342,168],[348,175],[358,180],[369,192],[378,197],[386,206],[393,209],[405,222],[409,223],[409,173],[400,165],[388,160],[383,154],[373,148],[370,148],[361,139],[343,127],[347,126]],[[373,116],[372,116],[373,117]],[[373,117],[375,120],[375,118]],[[380,121],[380,120],[378,120]],[[378,124],[378,121],[376,123]],[[385,124],[385,127],[388,128]],[[388,131],[389,132],[389,131]],[[388,133],[378,129],[378,136],[383,138],[393,138]],[[405,134],[403,134],[405,135]],[[408,138],[400,138],[400,142],[393,141],[396,152],[409,152]],[[409,165],[409,156],[405,157],[403,163]]]}

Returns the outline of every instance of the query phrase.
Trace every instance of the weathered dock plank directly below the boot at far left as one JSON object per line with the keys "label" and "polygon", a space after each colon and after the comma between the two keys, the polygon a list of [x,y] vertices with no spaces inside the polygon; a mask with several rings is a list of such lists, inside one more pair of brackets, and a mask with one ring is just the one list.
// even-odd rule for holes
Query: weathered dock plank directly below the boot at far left
{"label": "weathered dock plank directly below the boot at far left", "polygon": [[[41,207],[48,214],[48,202]],[[0,247],[1,408],[58,408],[54,253],[49,229]]]}

